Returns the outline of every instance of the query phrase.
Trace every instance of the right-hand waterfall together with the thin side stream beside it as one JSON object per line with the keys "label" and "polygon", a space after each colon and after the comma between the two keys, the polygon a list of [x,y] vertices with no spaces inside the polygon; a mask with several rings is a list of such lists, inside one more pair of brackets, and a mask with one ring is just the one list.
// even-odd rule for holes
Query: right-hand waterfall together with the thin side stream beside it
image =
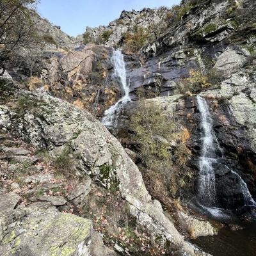
{"label": "right-hand waterfall together with the thin side stream beside it", "polygon": [[[213,215],[221,215],[221,209],[215,208],[216,202],[216,191],[215,191],[215,172],[213,163],[218,163],[217,149],[223,154],[223,151],[218,144],[218,140],[212,128],[212,118],[209,111],[209,106],[205,99],[199,95],[196,97],[198,102],[198,108],[201,116],[201,128],[204,132],[202,137],[203,145],[200,156],[200,173],[198,180],[198,200],[202,207]],[[228,166],[226,166],[228,168]],[[230,168],[228,168],[230,170]],[[246,205],[256,205],[255,201],[250,194],[244,180],[234,171],[230,170],[231,173],[236,175],[239,179],[241,191],[244,197],[244,203]]]}

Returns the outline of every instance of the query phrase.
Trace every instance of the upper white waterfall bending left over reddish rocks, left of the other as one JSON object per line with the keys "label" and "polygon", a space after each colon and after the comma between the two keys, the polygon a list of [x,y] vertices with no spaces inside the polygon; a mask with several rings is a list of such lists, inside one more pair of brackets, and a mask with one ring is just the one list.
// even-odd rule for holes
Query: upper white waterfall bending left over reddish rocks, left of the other
{"label": "upper white waterfall bending left over reddish rocks, left of the other", "polygon": [[120,84],[122,98],[118,100],[116,104],[114,104],[104,112],[102,124],[106,126],[115,126],[118,113],[120,113],[120,110],[123,108],[125,104],[127,104],[127,102],[131,102],[131,97],[129,96],[130,84],[127,84],[124,55],[122,54],[122,51],[120,49],[113,51],[111,62],[113,63],[114,67],[113,76],[116,77],[118,83]]}

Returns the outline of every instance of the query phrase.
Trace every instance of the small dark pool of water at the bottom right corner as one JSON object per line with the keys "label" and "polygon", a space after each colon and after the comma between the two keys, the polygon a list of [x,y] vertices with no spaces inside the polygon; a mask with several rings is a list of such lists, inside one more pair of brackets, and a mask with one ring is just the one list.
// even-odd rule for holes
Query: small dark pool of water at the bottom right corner
{"label": "small dark pool of water at the bottom right corner", "polygon": [[193,243],[213,256],[255,256],[256,221],[243,230],[223,228],[218,236],[199,237]]}

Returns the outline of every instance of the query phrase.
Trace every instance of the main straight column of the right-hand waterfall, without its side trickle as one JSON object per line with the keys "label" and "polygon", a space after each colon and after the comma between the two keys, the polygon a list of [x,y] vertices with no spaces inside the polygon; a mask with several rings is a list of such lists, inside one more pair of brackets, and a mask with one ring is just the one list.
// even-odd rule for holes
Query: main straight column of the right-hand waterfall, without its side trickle
{"label": "main straight column of the right-hand waterfall, without its side trickle", "polygon": [[198,197],[204,205],[214,205],[215,193],[215,173],[212,163],[216,161],[214,141],[216,141],[214,132],[212,131],[212,118],[209,107],[205,99],[197,96],[198,108],[201,115],[201,128],[204,132],[202,138],[203,145],[199,161],[199,181],[198,181]]}

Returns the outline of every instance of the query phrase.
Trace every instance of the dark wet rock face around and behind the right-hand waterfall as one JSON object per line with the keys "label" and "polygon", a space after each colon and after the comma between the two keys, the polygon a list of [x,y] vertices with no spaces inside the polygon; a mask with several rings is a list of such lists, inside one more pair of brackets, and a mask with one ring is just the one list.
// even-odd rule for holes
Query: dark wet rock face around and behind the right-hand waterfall
{"label": "dark wet rock face around and behind the right-hand waterfall", "polygon": [[[224,81],[223,83],[228,82]],[[237,90],[234,84],[230,83],[230,86],[233,90]],[[250,84],[250,87],[252,88],[252,84]],[[243,88],[242,86],[241,90]],[[219,98],[212,98],[212,92],[218,94],[216,97]],[[255,147],[252,146],[252,132],[251,136],[246,135],[248,129],[250,130],[252,127],[246,127],[244,123],[243,125],[237,123],[236,113],[230,108],[232,98],[223,99],[221,90],[207,90],[201,94],[206,98],[207,95],[209,97],[207,102],[212,115],[212,127],[218,140],[218,144],[214,143],[212,145],[216,148],[216,156],[214,157],[217,160],[213,164],[216,180],[215,206],[223,209],[238,209],[243,207],[244,204],[249,204],[248,191],[253,197],[255,196],[255,175],[253,173],[253,166],[256,163]],[[234,94],[234,97],[237,97],[237,91]],[[241,94],[243,95],[243,93]],[[190,193],[196,196],[198,193],[199,157],[202,150],[202,136],[204,136],[200,128],[201,120],[196,97],[174,95],[172,97],[148,99],[146,102],[159,104],[167,115],[172,116],[177,121],[179,120],[188,129],[190,134],[188,147],[192,153],[188,166],[194,173],[190,182],[195,184]],[[244,118],[248,115],[248,112],[240,111],[240,115]],[[252,109],[250,115],[253,116]]]}

